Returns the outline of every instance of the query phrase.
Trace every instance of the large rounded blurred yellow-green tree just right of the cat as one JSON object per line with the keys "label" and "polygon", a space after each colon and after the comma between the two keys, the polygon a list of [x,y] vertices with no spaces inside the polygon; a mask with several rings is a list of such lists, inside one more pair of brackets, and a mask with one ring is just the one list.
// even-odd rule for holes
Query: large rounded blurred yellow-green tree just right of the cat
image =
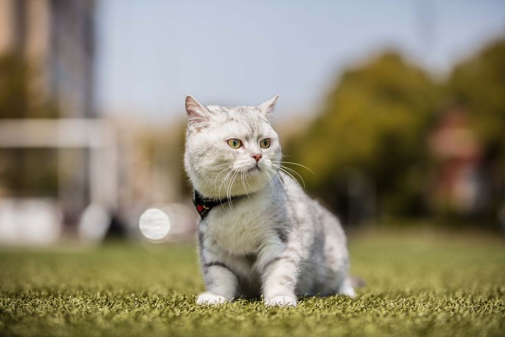
{"label": "large rounded blurred yellow-green tree just right of the cat", "polygon": [[360,188],[381,212],[422,212],[424,133],[436,92],[425,72],[386,53],[345,72],[319,117],[285,152],[314,171],[297,170],[307,189],[340,214],[352,212],[349,198]]}

